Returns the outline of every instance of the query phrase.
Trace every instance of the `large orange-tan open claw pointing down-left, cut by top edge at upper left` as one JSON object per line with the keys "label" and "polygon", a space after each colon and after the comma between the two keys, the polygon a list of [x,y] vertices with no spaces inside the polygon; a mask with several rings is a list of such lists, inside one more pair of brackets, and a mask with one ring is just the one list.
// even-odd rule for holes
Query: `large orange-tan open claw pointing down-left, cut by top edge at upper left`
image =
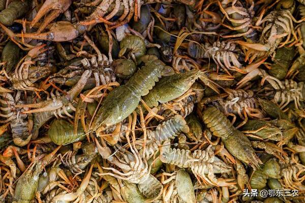
{"label": "large orange-tan open claw pointing down-left, cut by top edge at upper left", "polygon": [[46,0],[29,26],[32,28],[45,14],[53,10],[50,15],[45,18],[37,31],[37,33],[40,33],[52,20],[58,17],[60,13],[65,12],[71,4],[72,0]]}

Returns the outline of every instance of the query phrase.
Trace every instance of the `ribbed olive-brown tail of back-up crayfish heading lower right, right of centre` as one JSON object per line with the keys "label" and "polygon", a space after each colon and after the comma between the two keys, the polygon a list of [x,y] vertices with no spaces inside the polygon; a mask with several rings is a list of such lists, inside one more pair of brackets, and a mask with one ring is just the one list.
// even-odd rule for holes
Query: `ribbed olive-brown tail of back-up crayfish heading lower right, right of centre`
{"label": "ribbed olive-brown tail of back-up crayfish heading lower right, right of centre", "polygon": [[235,131],[225,115],[214,106],[208,107],[203,111],[202,119],[213,135],[222,139],[232,136]]}

